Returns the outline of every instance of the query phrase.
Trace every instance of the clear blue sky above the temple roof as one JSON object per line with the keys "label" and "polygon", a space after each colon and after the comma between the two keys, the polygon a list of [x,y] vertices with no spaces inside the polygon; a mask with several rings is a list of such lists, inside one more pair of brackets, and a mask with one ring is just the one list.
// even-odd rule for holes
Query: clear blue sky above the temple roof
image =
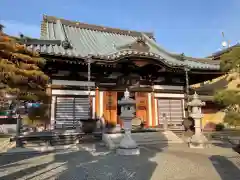
{"label": "clear blue sky above the temple roof", "polygon": [[240,0],[1,0],[5,32],[40,35],[42,15],[110,27],[154,32],[171,52],[203,57],[225,37],[240,41]]}

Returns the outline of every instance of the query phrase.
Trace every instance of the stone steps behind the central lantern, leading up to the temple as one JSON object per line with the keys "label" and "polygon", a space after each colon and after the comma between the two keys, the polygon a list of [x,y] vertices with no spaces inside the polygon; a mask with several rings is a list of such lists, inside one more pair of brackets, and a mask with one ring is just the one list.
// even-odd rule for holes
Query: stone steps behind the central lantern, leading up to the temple
{"label": "stone steps behind the central lantern, leading up to the temple", "polygon": [[[123,136],[123,133],[103,134],[102,138],[106,146],[114,149],[118,147]],[[132,133],[132,138],[138,145],[183,143],[172,131]]]}

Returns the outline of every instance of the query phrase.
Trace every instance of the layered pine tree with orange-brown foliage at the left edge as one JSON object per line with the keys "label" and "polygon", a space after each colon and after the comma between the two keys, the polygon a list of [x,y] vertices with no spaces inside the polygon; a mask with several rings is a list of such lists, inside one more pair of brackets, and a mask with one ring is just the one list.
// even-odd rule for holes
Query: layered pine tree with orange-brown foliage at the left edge
{"label": "layered pine tree with orange-brown foliage at the left edge", "polygon": [[19,100],[43,100],[49,79],[41,71],[45,60],[2,29],[0,25],[0,107],[6,102],[6,93]]}

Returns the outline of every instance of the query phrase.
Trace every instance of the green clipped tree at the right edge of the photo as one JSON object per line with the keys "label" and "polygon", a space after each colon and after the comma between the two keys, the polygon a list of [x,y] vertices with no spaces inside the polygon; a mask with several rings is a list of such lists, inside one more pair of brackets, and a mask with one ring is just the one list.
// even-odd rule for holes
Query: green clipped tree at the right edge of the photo
{"label": "green clipped tree at the right edge of the photo", "polygon": [[240,125],[240,47],[221,56],[221,69],[226,72],[228,85],[215,93],[214,99],[226,111],[224,121],[230,125]]}

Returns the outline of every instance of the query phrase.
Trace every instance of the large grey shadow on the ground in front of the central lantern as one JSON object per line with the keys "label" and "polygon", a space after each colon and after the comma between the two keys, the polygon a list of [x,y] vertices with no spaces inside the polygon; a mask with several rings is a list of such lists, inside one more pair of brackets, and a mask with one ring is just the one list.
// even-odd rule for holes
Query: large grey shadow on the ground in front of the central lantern
{"label": "large grey shadow on the ground in front of the central lantern", "polygon": [[140,156],[119,156],[114,152],[104,154],[101,147],[96,148],[94,154],[84,151],[82,154],[56,155],[56,161],[69,159],[67,169],[59,179],[148,180],[157,166],[150,160],[155,154],[144,149]]}

